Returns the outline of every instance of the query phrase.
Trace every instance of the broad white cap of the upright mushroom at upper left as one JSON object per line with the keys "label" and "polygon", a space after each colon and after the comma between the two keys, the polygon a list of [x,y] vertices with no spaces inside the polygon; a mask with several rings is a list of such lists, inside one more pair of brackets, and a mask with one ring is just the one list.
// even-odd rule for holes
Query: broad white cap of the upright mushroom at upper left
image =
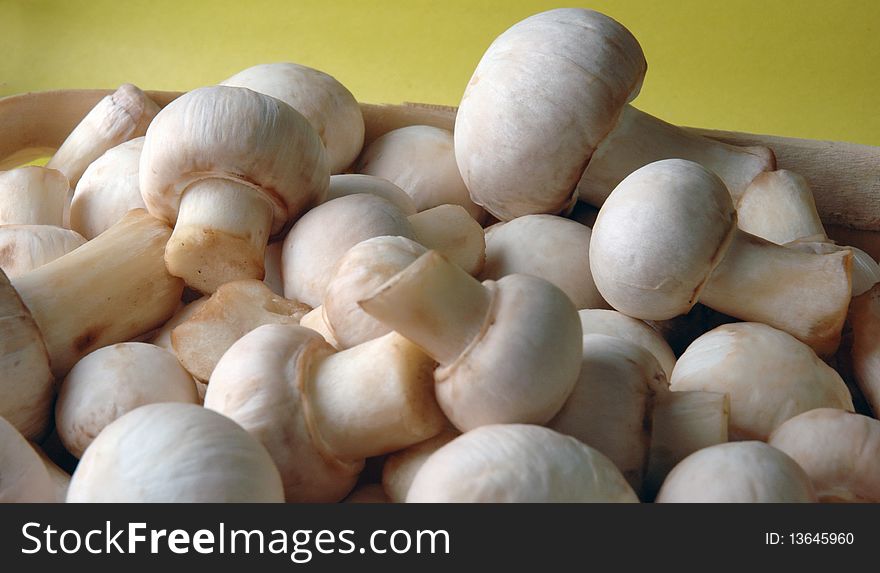
{"label": "broad white cap of the upright mushroom at upper left", "polygon": [[321,138],[299,112],[245,88],[205,87],[168,104],[147,129],[140,187],[152,215],[173,224],[183,192],[236,181],[272,206],[272,232],[323,201],[330,170]]}

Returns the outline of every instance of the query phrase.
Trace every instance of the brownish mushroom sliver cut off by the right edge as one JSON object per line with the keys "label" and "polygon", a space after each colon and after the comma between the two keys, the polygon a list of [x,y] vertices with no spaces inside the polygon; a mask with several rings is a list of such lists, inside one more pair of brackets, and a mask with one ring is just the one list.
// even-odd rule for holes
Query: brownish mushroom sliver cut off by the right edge
{"label": "brownish mushroom sliver cut off by the right edge", "polygon": [[852,368],[859,390],[880,416],[880,285],[853,299]]}

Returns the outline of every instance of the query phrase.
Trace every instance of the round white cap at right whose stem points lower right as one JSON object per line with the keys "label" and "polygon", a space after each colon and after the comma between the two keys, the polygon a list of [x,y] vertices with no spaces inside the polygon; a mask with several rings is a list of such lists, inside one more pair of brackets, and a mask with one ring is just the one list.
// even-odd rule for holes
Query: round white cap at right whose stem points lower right
{"label": "round white cap at right whose stem points lower right", "polygon": [[683,159],[637,169],[614,189],[593,227],[590,269],[612,307],[641,319],[687,313],[737,232],[717,175]]}

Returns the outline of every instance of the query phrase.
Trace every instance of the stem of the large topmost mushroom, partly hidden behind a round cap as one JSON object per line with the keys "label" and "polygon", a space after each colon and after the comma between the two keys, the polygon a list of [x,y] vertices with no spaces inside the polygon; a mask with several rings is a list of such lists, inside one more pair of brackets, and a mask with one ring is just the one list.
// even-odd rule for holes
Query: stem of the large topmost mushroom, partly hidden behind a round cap
{"label": "stem of the large topmost mushroom, partly hidden behind a round cap", "polygon": [[763,171],[776,168],[766,147],[737,147],[708,139],[626,105],[615,128],[596,148],[578,183],[581,200],[600,207],[617,184],[661,159],[680,158],[714,171],[736,202]]}

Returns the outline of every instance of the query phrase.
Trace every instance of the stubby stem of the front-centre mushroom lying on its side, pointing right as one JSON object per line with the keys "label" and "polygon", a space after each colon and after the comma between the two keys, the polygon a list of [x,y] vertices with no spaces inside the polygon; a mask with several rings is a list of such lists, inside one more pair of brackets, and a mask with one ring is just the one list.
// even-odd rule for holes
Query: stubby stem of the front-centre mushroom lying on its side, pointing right
{"label": "stubby stem of the front-centre mushroom lying on its side, pointing right", "polygon": [[444,417],[434,399],[435,367],[393,332],[318,362],[306,396],[321,449],[358,460],[439,433]]}

